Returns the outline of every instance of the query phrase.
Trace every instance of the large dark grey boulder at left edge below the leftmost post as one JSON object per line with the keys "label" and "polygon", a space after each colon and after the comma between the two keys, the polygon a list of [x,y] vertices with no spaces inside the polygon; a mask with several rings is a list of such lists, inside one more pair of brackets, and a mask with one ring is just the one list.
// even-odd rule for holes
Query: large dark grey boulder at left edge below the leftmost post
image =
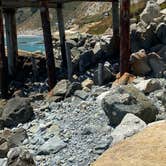
{"label": "large dark grey boulder at left edge below the leftmost post", "polygon": [[0,128],[13,127],[19,123],[25,123],[34,116],[33,108],[27,98],[10,99],[0,118]]}

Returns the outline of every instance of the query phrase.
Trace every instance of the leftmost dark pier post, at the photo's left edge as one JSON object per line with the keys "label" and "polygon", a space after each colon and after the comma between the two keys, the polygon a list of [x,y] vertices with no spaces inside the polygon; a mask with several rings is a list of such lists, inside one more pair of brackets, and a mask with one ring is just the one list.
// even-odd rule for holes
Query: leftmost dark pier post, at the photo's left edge
{"label": "leftmost dark pier post, at the photo's left edge", "polygon": [[2,98],[8,97],[8,67],[5,56],[4,30],[2,17],[2,0],[0,0],[0,91]]}

